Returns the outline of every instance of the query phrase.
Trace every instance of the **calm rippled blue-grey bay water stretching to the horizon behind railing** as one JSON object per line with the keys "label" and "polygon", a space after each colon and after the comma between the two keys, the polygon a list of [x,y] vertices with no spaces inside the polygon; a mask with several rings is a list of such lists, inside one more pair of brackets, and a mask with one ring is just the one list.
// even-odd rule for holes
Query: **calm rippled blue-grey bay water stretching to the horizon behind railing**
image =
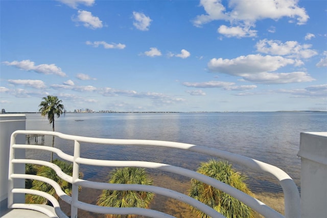
{"label": "calm rippled blue-grey bay water stretching to the horizon behind railing", "polygon": [[[300,159],[297,157],[300,132],[325,132],[327,113],[112,113],[66,114],[55,120],[57,132],[69,135],[152,139],[214,147],[254,158],[286,171],[300,185]],[[76,121],[83,120],[83,121]],[[28,130],[52,130],[40,114],[27,114]],[[52,138],[45,138],[50,145]],[[55,147],[73,154],[73,142],[56,139]],[[27,151],[28,157],[50,160],[49,152]],[[131,146],[82,144],[82,157],[112,160],[141,160],[168,163],[196,170],[200,162],[213,157],[178,149],[151,149]],[[263,178],[241,166],[233,166],[248,176],[253,192],[281,192],[272,179]],[[82,166],[84,178],[106,179],[110,169]],[[154,175],[161,172],[152,171]],[[165,175],[176,178],[176,175]],[[178,178],[188,182],[188,178]]]}

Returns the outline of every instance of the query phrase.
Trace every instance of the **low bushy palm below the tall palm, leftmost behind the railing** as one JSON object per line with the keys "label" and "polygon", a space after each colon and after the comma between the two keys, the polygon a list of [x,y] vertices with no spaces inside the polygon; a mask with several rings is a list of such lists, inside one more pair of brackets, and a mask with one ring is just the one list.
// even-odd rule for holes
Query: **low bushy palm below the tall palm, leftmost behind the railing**
{"label": "low bushy palm below the tall palm, leftmost behind the railing", "polygon": [[[59,166],[60,169],[67,175],[69,175],[69,176],[73,175],[73,164],[72,163],[68,163],[65,161],[58,160],[58,159],[54,160],[53,163],[56,164],[57,166]],[[55,182],[57,182],[60,185],[61,189],[66,194],[68,194],[69,196],[72,195],[72,184],[68,183],[67,181],[58,177],[56,171],[53,170],[52,168],[47,167],[47,166],[39,166],[37,168],[36,175],[54,180]],[[80,172],[79,178],[81,179],[82,177],[83,177],[83,173]],[[49,193],[49,194],[53,195],[57,200],[59,200],[59,196],[57,195],[56,190],[48,183],[45,183],[45,182],[42,182],[39,180],[33,180],[32,189]],[[80,190],[81,190],[81,187],[79,187],[79,191]],[[26,200],[27,200],[27,203],[30,203],[30,204],[49,204],[48,200],[46,200],[43,197],[40,197],[39,195],[27,194]]]}

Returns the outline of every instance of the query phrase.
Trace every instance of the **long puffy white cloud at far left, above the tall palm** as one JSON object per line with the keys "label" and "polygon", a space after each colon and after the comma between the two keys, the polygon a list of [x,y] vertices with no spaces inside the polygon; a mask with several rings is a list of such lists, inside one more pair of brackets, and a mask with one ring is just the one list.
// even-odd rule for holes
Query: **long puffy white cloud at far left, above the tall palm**
{"label": "long puffy white cloud at far left, above the tall palm", "polygon": [[36,73],[42,73],[42,74],[55,74],[58,76],[66,76],[64,72],[61,71],[61,68],[58,68],[54,63],[53,64],[40,64],[36,65],[33,61],[30,60],[22,60],[22,61],[4,61],[4,64],[7,66],[14,66],[18,69],[21,70],[26,70],[26,71],[34,71]]}

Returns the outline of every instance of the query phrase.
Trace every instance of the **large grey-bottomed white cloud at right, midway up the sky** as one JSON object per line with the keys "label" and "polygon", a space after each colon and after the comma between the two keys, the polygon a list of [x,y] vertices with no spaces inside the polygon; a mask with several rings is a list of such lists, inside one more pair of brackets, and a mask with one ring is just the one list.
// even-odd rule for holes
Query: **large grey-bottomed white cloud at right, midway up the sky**
{"label": "large grey-bottomed white cloud at right, midway up the sky", "polygon": [[270,73],[288,64],[297,65],[298,61],[282,56],[256,54],[235,59],[213,58],[208,62],[208,69],[212,72],[241,76],[244,80],[256,83],[278,84],[314,80],[306,72]]}

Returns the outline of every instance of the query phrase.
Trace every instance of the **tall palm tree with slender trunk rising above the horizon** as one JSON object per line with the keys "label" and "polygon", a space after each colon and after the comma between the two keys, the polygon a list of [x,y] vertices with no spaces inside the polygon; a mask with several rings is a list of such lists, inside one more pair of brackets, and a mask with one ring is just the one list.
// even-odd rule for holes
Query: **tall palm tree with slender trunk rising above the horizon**
{"label": "tall palm tree with slender trunk rising above the horizon", "polygon": [[[55,132],[55,115],[57,118],[64,112],[64,106],[61,104],[61,100],[57,96],[48,95],[43,97],[43,101],[39,104],[39,112],[43,117],[48,116],[50,124],[52,124],[52,130]],[[52,147],[55,144],[55,136],[52,137]],[[51,152],[51,162],[53,161],[53,152]]]}

